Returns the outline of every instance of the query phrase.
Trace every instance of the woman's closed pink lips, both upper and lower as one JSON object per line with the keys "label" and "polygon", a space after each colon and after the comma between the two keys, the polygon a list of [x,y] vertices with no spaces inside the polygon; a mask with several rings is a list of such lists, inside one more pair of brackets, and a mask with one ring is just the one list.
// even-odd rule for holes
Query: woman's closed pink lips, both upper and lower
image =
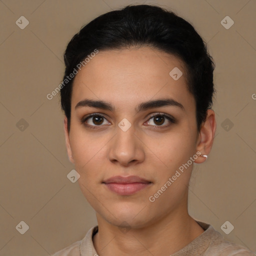
{"label": "woman's closed pink lips, both upper and lower", "polygon": [[139,176],[113,176],[102,182],[109,190],[119,195],[131,195],[143,188],[148,187],[152,182]]}

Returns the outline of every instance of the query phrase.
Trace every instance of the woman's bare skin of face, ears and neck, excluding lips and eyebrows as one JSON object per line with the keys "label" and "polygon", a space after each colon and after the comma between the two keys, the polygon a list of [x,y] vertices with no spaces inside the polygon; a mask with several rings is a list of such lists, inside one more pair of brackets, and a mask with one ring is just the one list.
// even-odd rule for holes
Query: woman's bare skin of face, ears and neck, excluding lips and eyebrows
{"label": "woman's bare skin of face, ears and neck, excluding lips and eyebrows", "polygon": [[[183,72],[178,80],[169,75],[173,67]],[[184,109],[161,106],[135,111],[143,101],[166,96]],[[105,100],[115,109],[75,109],[85,98]],[[157,112],[173,116],[176,122],[164,118],[159,125],[150,118]],[[91,113],[105,117],[98,129],[81,123]],[[131,124],[125,132],[118,126],[123,118]],[[87,123],[98,125],[93,118]],[[154,202],[148,198],[196,151],[210,152],[215,129],[215,114],[209,109],[197,131],[195,100],[187,90],[184,65],[170,54],[146,46],[104,50],[78,72],[71,96],[69,133],[64,118],[65,141],[69,160],[80,174],[81,191],[96,211],[99,230],[93,244],[98,255],[170,255],[204,231],[187,211],[193,164]],[[194,160],[203,161],[202,156]],[[135,194],[118,195],[102,183],[114,175],[138,175],[152,183]]]}

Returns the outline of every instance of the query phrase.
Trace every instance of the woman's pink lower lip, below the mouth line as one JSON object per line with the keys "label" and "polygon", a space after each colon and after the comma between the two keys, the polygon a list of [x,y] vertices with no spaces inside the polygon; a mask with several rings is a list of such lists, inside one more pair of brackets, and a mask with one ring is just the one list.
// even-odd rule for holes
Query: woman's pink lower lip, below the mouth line
{"label": "woman's pink lower lip, below the mouth line", "polygon": [[105,183],[108,189],[112,192],[115,192],[120,195],[129,195],[138,192],[139,190],[147,187],[151,183],[127,183],[127,184],[120,184],[120,183]]}

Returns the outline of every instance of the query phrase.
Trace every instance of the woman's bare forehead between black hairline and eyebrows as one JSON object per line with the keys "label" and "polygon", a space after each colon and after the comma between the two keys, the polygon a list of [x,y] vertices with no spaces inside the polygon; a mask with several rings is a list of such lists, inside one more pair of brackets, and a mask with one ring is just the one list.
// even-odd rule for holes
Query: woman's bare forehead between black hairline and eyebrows
{"label": "woman's bare forehead between black hairline and eyebrows", "polygon": [[[171,70],[183,74],[175,80]],[[182,101],[187,107],[194,103],[179,58],[150,47],[102,50],[76,74],[71,108],[83,98],[132,106],[164,96]]]}

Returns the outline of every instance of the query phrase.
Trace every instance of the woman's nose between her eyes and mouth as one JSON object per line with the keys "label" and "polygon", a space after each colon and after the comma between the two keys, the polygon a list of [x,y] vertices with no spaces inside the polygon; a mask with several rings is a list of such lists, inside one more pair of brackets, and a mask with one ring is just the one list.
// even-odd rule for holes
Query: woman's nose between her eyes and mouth
{"label": "woman's nose between her eyes and mouth", "polygon": [[123,131],[116,127],[116,135],[109,143],[108,159],[123,166],[137,164],[144,160],[144,148],[139,136],[134,133],[134,127]]}

